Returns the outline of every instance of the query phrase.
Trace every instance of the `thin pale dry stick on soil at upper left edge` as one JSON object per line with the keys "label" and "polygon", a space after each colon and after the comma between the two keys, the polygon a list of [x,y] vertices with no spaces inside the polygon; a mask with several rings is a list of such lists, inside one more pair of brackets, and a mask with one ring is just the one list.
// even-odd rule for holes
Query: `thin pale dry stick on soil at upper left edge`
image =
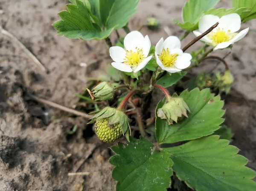
{"label": "thin pale dry stick on soil at upper left edge", "polygon": [[32,52],[29,51],[29,49],[26,48],[26,46],[24,46],[23,43],[21,43],[14,35],[12,35],[10,32],[6,31],[5,29],[2,28],[2,26],[0,26],[0,32],[2,32],[3,35],[6,35],[7,37],[11,38],[13,41],[15,41],[15,43],[17,43],[21,49],[24,50],[24,52],[27,53],[27,55],[29,55],[29,57],[35,62],[35,64],[38,65],[38,67],[43,70],[44,72],[46,72],[45,67],[43,66],[43,64],[41,64],[40,61],[38,61],[38,59],[35,57],[35,55],[32,54]]}

